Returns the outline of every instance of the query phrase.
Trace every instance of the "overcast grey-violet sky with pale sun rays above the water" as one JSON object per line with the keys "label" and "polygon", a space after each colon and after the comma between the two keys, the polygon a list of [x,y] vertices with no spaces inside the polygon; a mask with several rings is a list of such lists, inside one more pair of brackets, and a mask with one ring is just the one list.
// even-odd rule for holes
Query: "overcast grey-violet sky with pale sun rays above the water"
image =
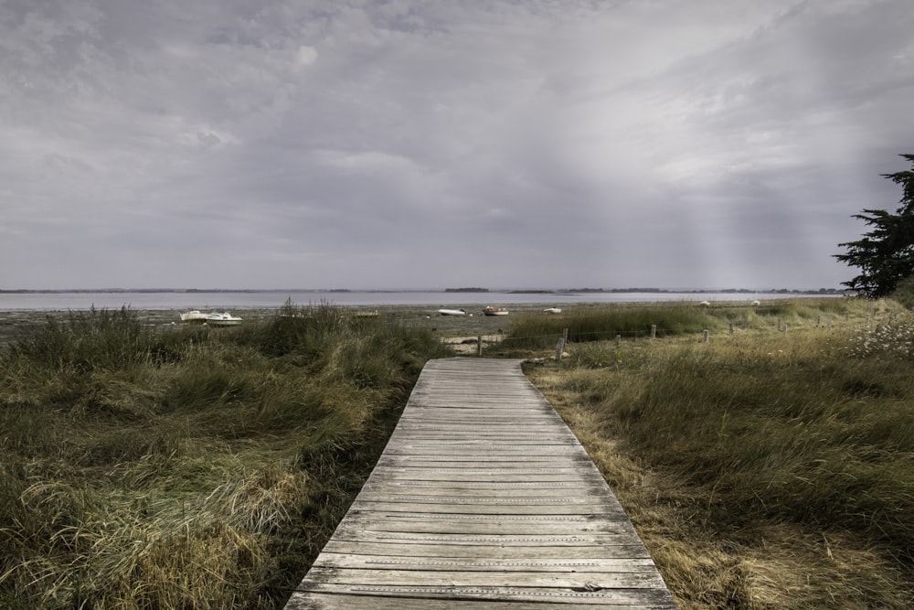
{"label": "overcast grey-violet sky with pale sun rays above the water", "polygon": [[910,0],[0,0],[0,289],[837,288]]}

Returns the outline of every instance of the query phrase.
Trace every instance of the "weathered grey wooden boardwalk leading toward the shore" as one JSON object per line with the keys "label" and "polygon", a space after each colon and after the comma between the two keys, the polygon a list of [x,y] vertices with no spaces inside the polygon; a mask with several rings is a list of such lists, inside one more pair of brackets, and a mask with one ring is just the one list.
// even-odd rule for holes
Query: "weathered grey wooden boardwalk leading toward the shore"
{"label": "weathered grey wooden boardwalk leading toward the shore", "polygon": [[302,608],[675,608],[520,360],[430,361]]}

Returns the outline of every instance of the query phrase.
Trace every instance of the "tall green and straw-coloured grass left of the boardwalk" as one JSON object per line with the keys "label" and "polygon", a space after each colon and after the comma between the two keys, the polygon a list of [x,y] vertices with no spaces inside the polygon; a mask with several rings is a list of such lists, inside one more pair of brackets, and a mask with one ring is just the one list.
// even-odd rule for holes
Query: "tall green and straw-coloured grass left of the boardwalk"
{"label": "tall green and straw-coloured grass left of the boardwalk", "polygon": [[332,305],[19,329],[0,352],[0,607],[281,607],[446,353]]}

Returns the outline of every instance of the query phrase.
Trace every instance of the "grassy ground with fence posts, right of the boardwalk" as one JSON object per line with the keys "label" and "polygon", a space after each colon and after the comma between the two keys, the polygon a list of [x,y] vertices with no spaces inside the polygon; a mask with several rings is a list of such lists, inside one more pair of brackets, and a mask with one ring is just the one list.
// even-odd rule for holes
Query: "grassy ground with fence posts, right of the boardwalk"
{"label": "grassy ground with fence posts, right of the boardwalk", "polygon": [[681,607],[914,607],[910,312],[856,298],[620,306],[517,318],[499,349],[544,357],[528,375]]}

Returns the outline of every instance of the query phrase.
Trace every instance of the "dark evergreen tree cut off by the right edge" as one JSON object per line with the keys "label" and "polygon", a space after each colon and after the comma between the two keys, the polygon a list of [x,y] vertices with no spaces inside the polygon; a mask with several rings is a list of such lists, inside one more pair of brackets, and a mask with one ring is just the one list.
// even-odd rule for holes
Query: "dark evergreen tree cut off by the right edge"
{"label": "dark evergreen tree cut off by the right edge", "polygon": [[860,274],[843,283],[851,290],[870,297],[887,296],[898,283],[914,276],[914,155],[901,155],[911,169],[883,174],[901,185],[901,205],[894,214],[885,209],[864,209],[853,218],[861,219],[873,229],[863,239],[839,243],[847,251],[834,258],[859,267]]}

